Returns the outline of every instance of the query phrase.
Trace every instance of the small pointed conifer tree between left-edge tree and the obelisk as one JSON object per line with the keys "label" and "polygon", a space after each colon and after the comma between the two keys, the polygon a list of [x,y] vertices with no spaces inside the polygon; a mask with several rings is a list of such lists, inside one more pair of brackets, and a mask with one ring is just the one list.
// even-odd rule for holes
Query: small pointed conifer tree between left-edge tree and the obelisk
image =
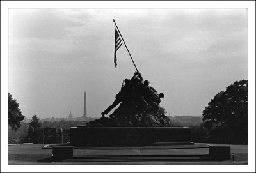
{"label": "small pointed conifer tree between left-edge tree and the obelisk", "polygon": [[28,129],[28,138],[31,139],[33,144],[38,144],[39,130],[41,124],[39,122],[39,118],[35,115],[32,117],[31,122],[29,123]]}

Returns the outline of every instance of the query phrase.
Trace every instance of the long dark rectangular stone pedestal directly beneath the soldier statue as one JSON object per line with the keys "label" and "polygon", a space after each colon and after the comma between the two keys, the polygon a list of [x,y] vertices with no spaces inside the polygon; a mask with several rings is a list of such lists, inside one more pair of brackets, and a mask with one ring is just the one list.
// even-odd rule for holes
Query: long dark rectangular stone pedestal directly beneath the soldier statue
{"label": "long dark rectangular stone pedestal directly beneath the soldier statue", "polygon": [[70,144],[74,147],[143,146],[154,142],[190,141],[190,128],[184,126],[70,128]]}

